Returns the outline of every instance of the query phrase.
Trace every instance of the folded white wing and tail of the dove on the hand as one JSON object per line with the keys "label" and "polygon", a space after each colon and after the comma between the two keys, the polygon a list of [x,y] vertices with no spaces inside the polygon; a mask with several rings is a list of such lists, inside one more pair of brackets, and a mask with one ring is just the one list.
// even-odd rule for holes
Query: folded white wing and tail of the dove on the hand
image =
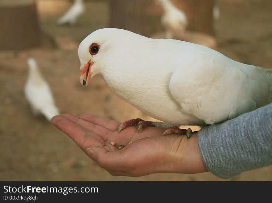
{"label": "folded white wing and tail of the dove on the hand", "polygon": [[182,113],[214,124],[272,102],[268,70],[233,61],[206,47],[193,50],[194,58],[176,68],[170,80],[171,94]]}

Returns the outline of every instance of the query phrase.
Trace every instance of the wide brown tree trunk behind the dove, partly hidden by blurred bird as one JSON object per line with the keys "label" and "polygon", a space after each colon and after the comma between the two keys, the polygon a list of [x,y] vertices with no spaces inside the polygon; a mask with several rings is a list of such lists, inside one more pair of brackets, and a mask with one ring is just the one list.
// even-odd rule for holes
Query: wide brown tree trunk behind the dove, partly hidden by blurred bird
{"label": "wide brown tree trunk behind the dove, partly hidden by blurred bird", "polygon": [[[214,0],[172,0],[185,12],[188,30],[213,35],[212,9]],[[162,8],[156,0],[111,0],[110,27],[130,30],[144,36],[151,36],[163,30]]]}

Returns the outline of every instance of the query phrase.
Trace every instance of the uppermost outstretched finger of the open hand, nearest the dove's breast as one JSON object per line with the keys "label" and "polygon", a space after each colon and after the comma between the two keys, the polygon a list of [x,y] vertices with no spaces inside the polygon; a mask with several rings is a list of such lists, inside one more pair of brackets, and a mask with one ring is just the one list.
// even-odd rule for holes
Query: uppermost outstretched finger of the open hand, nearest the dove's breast
{"label": "uppermost outstretched finger of the open hand, nearest the dove's breast", "polygon": [[97,116],[92,116],[92,115],[87,115],[87,114],[82,114],[79,116],[80,119],[91,122],[93,124],[96,125],[101,125],[104,128],[107,128],[111,131],[115,131],[118,129],[120,123],[117,121],[113,121],[110,119],[106,119],[106,118],[100,118]]}

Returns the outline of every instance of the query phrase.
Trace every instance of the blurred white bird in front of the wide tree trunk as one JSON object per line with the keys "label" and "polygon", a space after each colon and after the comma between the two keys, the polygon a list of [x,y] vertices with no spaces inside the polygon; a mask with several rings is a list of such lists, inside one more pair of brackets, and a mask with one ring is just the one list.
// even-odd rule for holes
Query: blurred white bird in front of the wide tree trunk
{"label": "blurred white bird in front of the wide tree trunk", "polygon": [[157,0],[164,13],[161,23],[164,26],[166,38],[172,39],[175,35],[184,36],[188,22],[184,12],[176,8],[170,0]]}

